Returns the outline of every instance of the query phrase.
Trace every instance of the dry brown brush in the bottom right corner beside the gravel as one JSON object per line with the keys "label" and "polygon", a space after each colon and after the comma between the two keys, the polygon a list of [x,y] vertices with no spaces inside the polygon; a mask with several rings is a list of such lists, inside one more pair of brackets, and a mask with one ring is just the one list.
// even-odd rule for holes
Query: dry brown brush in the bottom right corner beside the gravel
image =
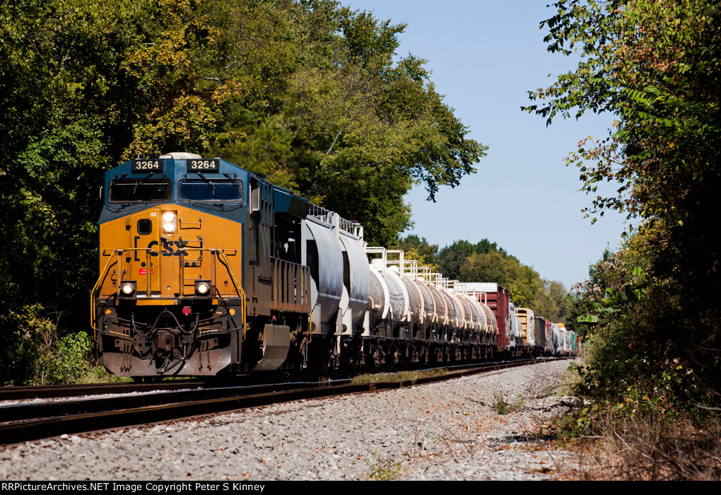
{"label": "dry brown brush in the bottom right corner beside the gravel", "polygon": [[593,439],[580,462],[580,477],[611,480],[721,479],[721,424],[686,411],[674,390],[683,367],[655,380],[629,385],[615,400],[584,406],[565,418],[563,431]]}

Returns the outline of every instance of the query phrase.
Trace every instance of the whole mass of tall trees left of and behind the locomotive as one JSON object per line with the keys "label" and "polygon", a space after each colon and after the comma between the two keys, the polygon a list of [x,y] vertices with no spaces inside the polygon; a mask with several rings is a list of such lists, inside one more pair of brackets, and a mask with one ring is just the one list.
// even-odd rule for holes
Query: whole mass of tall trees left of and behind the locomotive
{"label": "whole mass of tall trees left of and behind the locomotive", "polygon": [[403,29],[330,0],[1,2],[3,335],[86,327],[102,174],[137,154],[223,154],[394,242],[412,185],[432,199],[486,149],[425,61],[394,61]]}

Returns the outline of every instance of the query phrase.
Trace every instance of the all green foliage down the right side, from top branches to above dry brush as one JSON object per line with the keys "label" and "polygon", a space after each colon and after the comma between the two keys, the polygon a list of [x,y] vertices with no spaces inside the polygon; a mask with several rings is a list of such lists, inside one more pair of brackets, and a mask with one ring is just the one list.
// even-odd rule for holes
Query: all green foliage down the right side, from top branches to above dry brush
{"label": "all green foliage down the right side, from top branches to above dry brush", "polygon": [[[567,163],[579,167],[582,189],[593,196],[593,221],[616,210],[641,222],[618,253],[591,268],[574,298],[570,314],[593,341],[584,393],[603,400],[628,386],[648,390],[660,386],[659,373],[679,366],[688,374],[669,382],[674,400],[700,419],[721,397],[721,271],[712,227],[721,210],[721,4],[554,6],[557,14],[541,23],[548,49],[577,50],[581,61],[529,92],[535,102],[526,110],[547,123],[586,111],[614,114],[608,135],[580,141]],[[616,193],[601,194],[604,182],[616,183]]]}

